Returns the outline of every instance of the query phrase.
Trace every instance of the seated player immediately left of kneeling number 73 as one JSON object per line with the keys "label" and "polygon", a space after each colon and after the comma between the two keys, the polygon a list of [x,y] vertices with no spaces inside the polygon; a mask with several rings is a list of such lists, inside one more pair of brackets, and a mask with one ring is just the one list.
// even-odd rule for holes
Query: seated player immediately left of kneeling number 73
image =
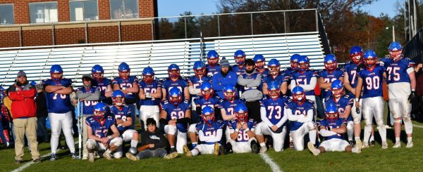
{"label": "seated player immediately left of kneeling number 73", "polygon": [[244,104],[235,106],[235,119],[228,121],[230,129],[232,151],[234,153],[257,153],[257,141],[255,140],[255,125],[254,119],[248,119],[247,107]]}

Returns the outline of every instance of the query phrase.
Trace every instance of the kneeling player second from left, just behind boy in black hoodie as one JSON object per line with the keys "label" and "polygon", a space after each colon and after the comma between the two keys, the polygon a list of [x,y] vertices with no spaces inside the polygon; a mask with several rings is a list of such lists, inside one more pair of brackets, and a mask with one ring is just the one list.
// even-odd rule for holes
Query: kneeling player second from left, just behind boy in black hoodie
{"label": "kneeling player second from left, just behind boy in black hoodie", "polygon": [[[130,147],[137,147],[138,132],[129,128],[130,125],[132,125],[133,118],[131,117],[131,114],[133,112],[131,112],[130,107],[124,103],[125,94],[120,90],[113,91],[113,93],[111,93],[111,100],[113,105],[110,107],[110,112],[112,117],[116,120],[116,125],[123,142],[130,141]],[[123,156],[123,145],[116,150],[113,156],[116,159]]]}

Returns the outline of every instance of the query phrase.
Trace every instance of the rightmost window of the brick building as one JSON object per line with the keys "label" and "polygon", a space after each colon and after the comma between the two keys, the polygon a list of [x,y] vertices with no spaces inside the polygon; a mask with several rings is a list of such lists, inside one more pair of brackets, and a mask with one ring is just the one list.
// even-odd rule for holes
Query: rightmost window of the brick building
{"label": "rightmost window of the brick building", "polygon": [[111,19],[138,18],[137,0],[110,0]]}

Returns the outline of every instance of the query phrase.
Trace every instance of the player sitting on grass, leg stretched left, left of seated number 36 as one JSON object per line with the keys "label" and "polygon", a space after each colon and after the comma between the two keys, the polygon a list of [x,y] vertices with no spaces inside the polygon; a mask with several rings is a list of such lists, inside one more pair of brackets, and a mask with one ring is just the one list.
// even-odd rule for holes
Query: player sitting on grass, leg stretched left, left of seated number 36
{"label": "player sitting on grass, leg stretched left, left of seated number 36", "polygon": [[206,106],[202,109],[202,123],[198,123],[195,128],[198,131],[198,138],[202,144],[189,150],[187,145],[183,145],[183,152],[187,157],[197,156],[198,154],[219,155],[221,145],[219,144],[223,135],[223,121],[214,120],[214,110]]}

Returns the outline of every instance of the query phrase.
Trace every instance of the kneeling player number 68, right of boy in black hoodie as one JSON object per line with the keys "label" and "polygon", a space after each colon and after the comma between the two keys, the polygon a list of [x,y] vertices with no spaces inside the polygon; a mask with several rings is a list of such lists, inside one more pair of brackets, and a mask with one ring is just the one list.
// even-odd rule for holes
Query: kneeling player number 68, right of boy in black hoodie
{"label": "kneeling player number 68, right of boy in black hoodie", "polygon": [[[161,103],[160,123],[164,125],[166,138],[171,145],[171,153],[183,153],[183,145],[187,144],[188,123],[191,118],[191,104],[183,100],[182,92],[178,87],[169,90],[168,100]],[[175,149],[176,139],[176,149]]]}

